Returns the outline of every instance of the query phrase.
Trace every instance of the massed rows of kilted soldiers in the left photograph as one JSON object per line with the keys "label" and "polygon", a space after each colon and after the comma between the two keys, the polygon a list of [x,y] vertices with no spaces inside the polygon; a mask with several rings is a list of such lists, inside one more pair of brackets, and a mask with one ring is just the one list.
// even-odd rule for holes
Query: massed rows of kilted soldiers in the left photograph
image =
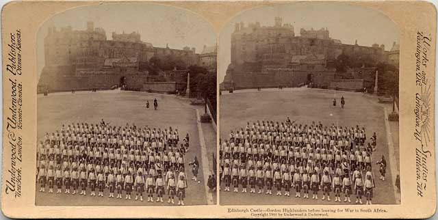
{"label": "massed rows of kilted soldiers in the left photograph", "polygon": [[[108,197],[148,202],[184,205],[185,152],[188,152],[189,135],[180,143],[175,128],[110,126],[73,123],[62,125],[55,133],[47,133],[38,143],[37,181],[40,192],[71,193],[73,195]],[[70,191],[72,190],[72,191]],[[80,191],[80,192],[79,192]]]}

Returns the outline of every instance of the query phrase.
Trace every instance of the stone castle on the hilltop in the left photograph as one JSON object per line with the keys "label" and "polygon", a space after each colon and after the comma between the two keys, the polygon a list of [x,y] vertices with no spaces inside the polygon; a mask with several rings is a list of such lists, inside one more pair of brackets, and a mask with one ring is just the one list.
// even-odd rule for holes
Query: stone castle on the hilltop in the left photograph
{"label": "stone castle on the hilltop in the left photograph", "polygon": [[191,66],[200,65],[201,56],[189,46],[183,49],[153,46],[143,42],[138,31],[112,32],[112,40],[108,40],[105,30],[94,27],[92,22],[84,30],[49,27],[44,38],[44,67],[38,91],[107,89],[122,83],[140,90],[151,79],[151,72],[144,66],[153,57],[162,63],[173,59]]}

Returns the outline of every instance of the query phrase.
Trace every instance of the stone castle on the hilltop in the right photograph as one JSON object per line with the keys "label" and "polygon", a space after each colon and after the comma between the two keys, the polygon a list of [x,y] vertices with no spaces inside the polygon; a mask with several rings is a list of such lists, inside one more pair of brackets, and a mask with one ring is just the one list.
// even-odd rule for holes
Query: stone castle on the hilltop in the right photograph
{"label": "stone castle on the hilltop in the right photograph", "polygon": [[[372,68],[379,63],[398,68],[398,56],[398,44],[395,42],[390,51],[385,51],[383,44],[342,44],[340,40],[330,38],[326,28],[300,29],[300,36],[296,36],[294,27],[283,23],[279,17],[274,18],[271,27],[261,26],[258,22],[248,25],[236,23],[231,33],[231,64],[221,88],[312,83],[322,88],[343,85],[345,90],[362,89],[364,86],[372,89],[370,81],[375,75]],[[354,65],[347,66],[347,73],[340,73],[343,77],[339,77],[337,65],[342,57],[349,57]],[[360,68],[366,71],[363,76],[355,74],[361,72]]]}

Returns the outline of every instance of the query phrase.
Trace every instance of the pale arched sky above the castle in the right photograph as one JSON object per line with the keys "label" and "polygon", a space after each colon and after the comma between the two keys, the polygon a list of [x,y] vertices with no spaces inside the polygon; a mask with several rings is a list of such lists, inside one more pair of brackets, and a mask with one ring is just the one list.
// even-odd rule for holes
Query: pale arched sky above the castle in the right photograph
{"label": "pale arched sky above the castle in the right photograph", "polygon": [[355,44],[357,40],[359,45],[371,46],[376,42],[385,44],[385,50],[389,51],[394,41],[399,42],[398,27],[392,20],[377,10],[363,6],[337,2],[299,2],[253,8],[231,18],[220,33],[219,82],[223,81],[230,64],[231,33],[235,23],[243,21],[247,26],[258,21],[261,26],[273,26],[276,16],[282,17],[283,23],[294,26],[295,36],[300,35],[301,28],[326,27],[331,38],[341,40],[344,44]]}

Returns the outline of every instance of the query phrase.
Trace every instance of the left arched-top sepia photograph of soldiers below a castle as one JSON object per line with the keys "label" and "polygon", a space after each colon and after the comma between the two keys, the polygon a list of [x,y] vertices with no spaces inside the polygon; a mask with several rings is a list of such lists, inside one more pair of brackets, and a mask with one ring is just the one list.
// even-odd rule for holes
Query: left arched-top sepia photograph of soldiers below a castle
{"label": "left arched-top sepia photograph of soldiers below a castle", "polygon": [[36,206],[216,204],[216,35],[159,4],[60,12],[36,36]]}

